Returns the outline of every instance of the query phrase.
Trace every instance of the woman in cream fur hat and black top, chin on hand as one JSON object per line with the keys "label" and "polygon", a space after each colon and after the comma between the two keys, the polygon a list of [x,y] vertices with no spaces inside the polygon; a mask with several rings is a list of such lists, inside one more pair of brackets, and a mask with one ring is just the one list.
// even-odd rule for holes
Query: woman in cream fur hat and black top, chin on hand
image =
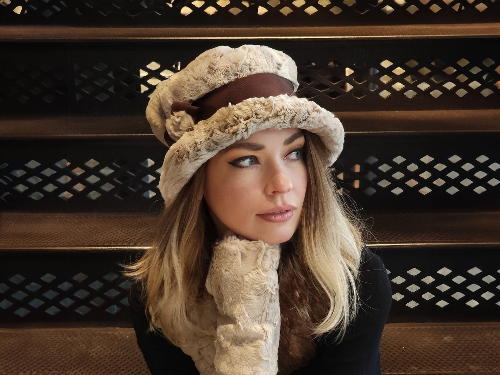
{"label": "woman in cream fur hat and black top, chin on hand", "polygon": [[380,374],[390,283],[331,178],[342,124],[297,88],[288,55],[245,44],[151,94],[165,205],[123,266],[153,375]]}

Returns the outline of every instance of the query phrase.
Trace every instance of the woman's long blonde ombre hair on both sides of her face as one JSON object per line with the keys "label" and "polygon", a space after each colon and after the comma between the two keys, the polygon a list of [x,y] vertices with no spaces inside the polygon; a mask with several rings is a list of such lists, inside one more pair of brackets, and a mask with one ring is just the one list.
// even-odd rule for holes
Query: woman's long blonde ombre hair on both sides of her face
{"label": "woman's long blonde ombre hair on both sides of her face", "polygon": [[[307,273],[326,296],[329,309],[311,329],[313,338],[338,331],[342,339],[358,312],[363,222],[341,200],[331,171],[324,167],[326,150],[321,138],[307,130],[304,154],[307,188],[299,225],[292,246]],[[176,346],[183,346],[199,327],[190,311],[202,303],[201,296],[217,239],[213,220],[203,199],[206,163],[182,188],[175,200],[163,207],[150,248],[139,253],[138,260],[121,264],[123,275],[132,277],[147,296],[149,330],[160,332]],[[292,261],[283,257],[283,261]],[[281,260],[280,260],[281,262]],[[280,271],[292,269],[290,264]]]}

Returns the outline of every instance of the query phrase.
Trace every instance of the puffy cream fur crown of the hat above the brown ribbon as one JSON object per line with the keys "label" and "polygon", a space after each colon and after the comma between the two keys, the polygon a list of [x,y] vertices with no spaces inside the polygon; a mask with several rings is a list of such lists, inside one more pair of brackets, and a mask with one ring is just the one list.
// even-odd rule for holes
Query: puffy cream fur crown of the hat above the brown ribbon
{"label": "puffy cream fur crown of the hat above the brown ribbon", "polygon": [[286,53],[265,45],[227,45],[207,49],[182,70],[159,82],[146,107],[146,118],[158,139],[166,145],[163,133],[177,140],[194,128],[185,111],[171,114],[173,101],[191,104],[204,94],[237,78],[256,73],[274,73],[288,78],[293,91],[298,88],[297,67]]}

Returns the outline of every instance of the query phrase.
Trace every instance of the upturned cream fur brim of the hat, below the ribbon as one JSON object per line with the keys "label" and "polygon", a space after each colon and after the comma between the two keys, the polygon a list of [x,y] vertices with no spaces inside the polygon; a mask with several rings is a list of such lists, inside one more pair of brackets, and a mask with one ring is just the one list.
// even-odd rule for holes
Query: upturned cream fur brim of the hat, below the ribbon
{"label": "upturned cream fur brim of the hat, below the ribbon", "polygon": [[281,94],[250,97],[229,103],[212,116],[196,123],[173,143],[165,154],[159,190],[165,206],[174,199],[203,163],[240,138],[269,128],[298,127],[319,135],[329,157],[325,166],[338,158],[344,142],[344,129],[332,112],[314,101]]}

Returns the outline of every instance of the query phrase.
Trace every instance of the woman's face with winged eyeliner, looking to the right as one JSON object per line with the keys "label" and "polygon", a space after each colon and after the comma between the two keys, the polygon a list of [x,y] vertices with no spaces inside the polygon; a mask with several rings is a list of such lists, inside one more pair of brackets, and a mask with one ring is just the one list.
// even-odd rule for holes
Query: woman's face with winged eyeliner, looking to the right
{"label": "woman's face with winged eyeliner, looking to the right", "polygon": [[[282,243],[299,223],[307,186],[303,130],[265,129],[238,139],[207,161],[204,198],[219,238],[232,230],[245,238]],[[271,222],[258,216],[290,204],[293,215]]]}

